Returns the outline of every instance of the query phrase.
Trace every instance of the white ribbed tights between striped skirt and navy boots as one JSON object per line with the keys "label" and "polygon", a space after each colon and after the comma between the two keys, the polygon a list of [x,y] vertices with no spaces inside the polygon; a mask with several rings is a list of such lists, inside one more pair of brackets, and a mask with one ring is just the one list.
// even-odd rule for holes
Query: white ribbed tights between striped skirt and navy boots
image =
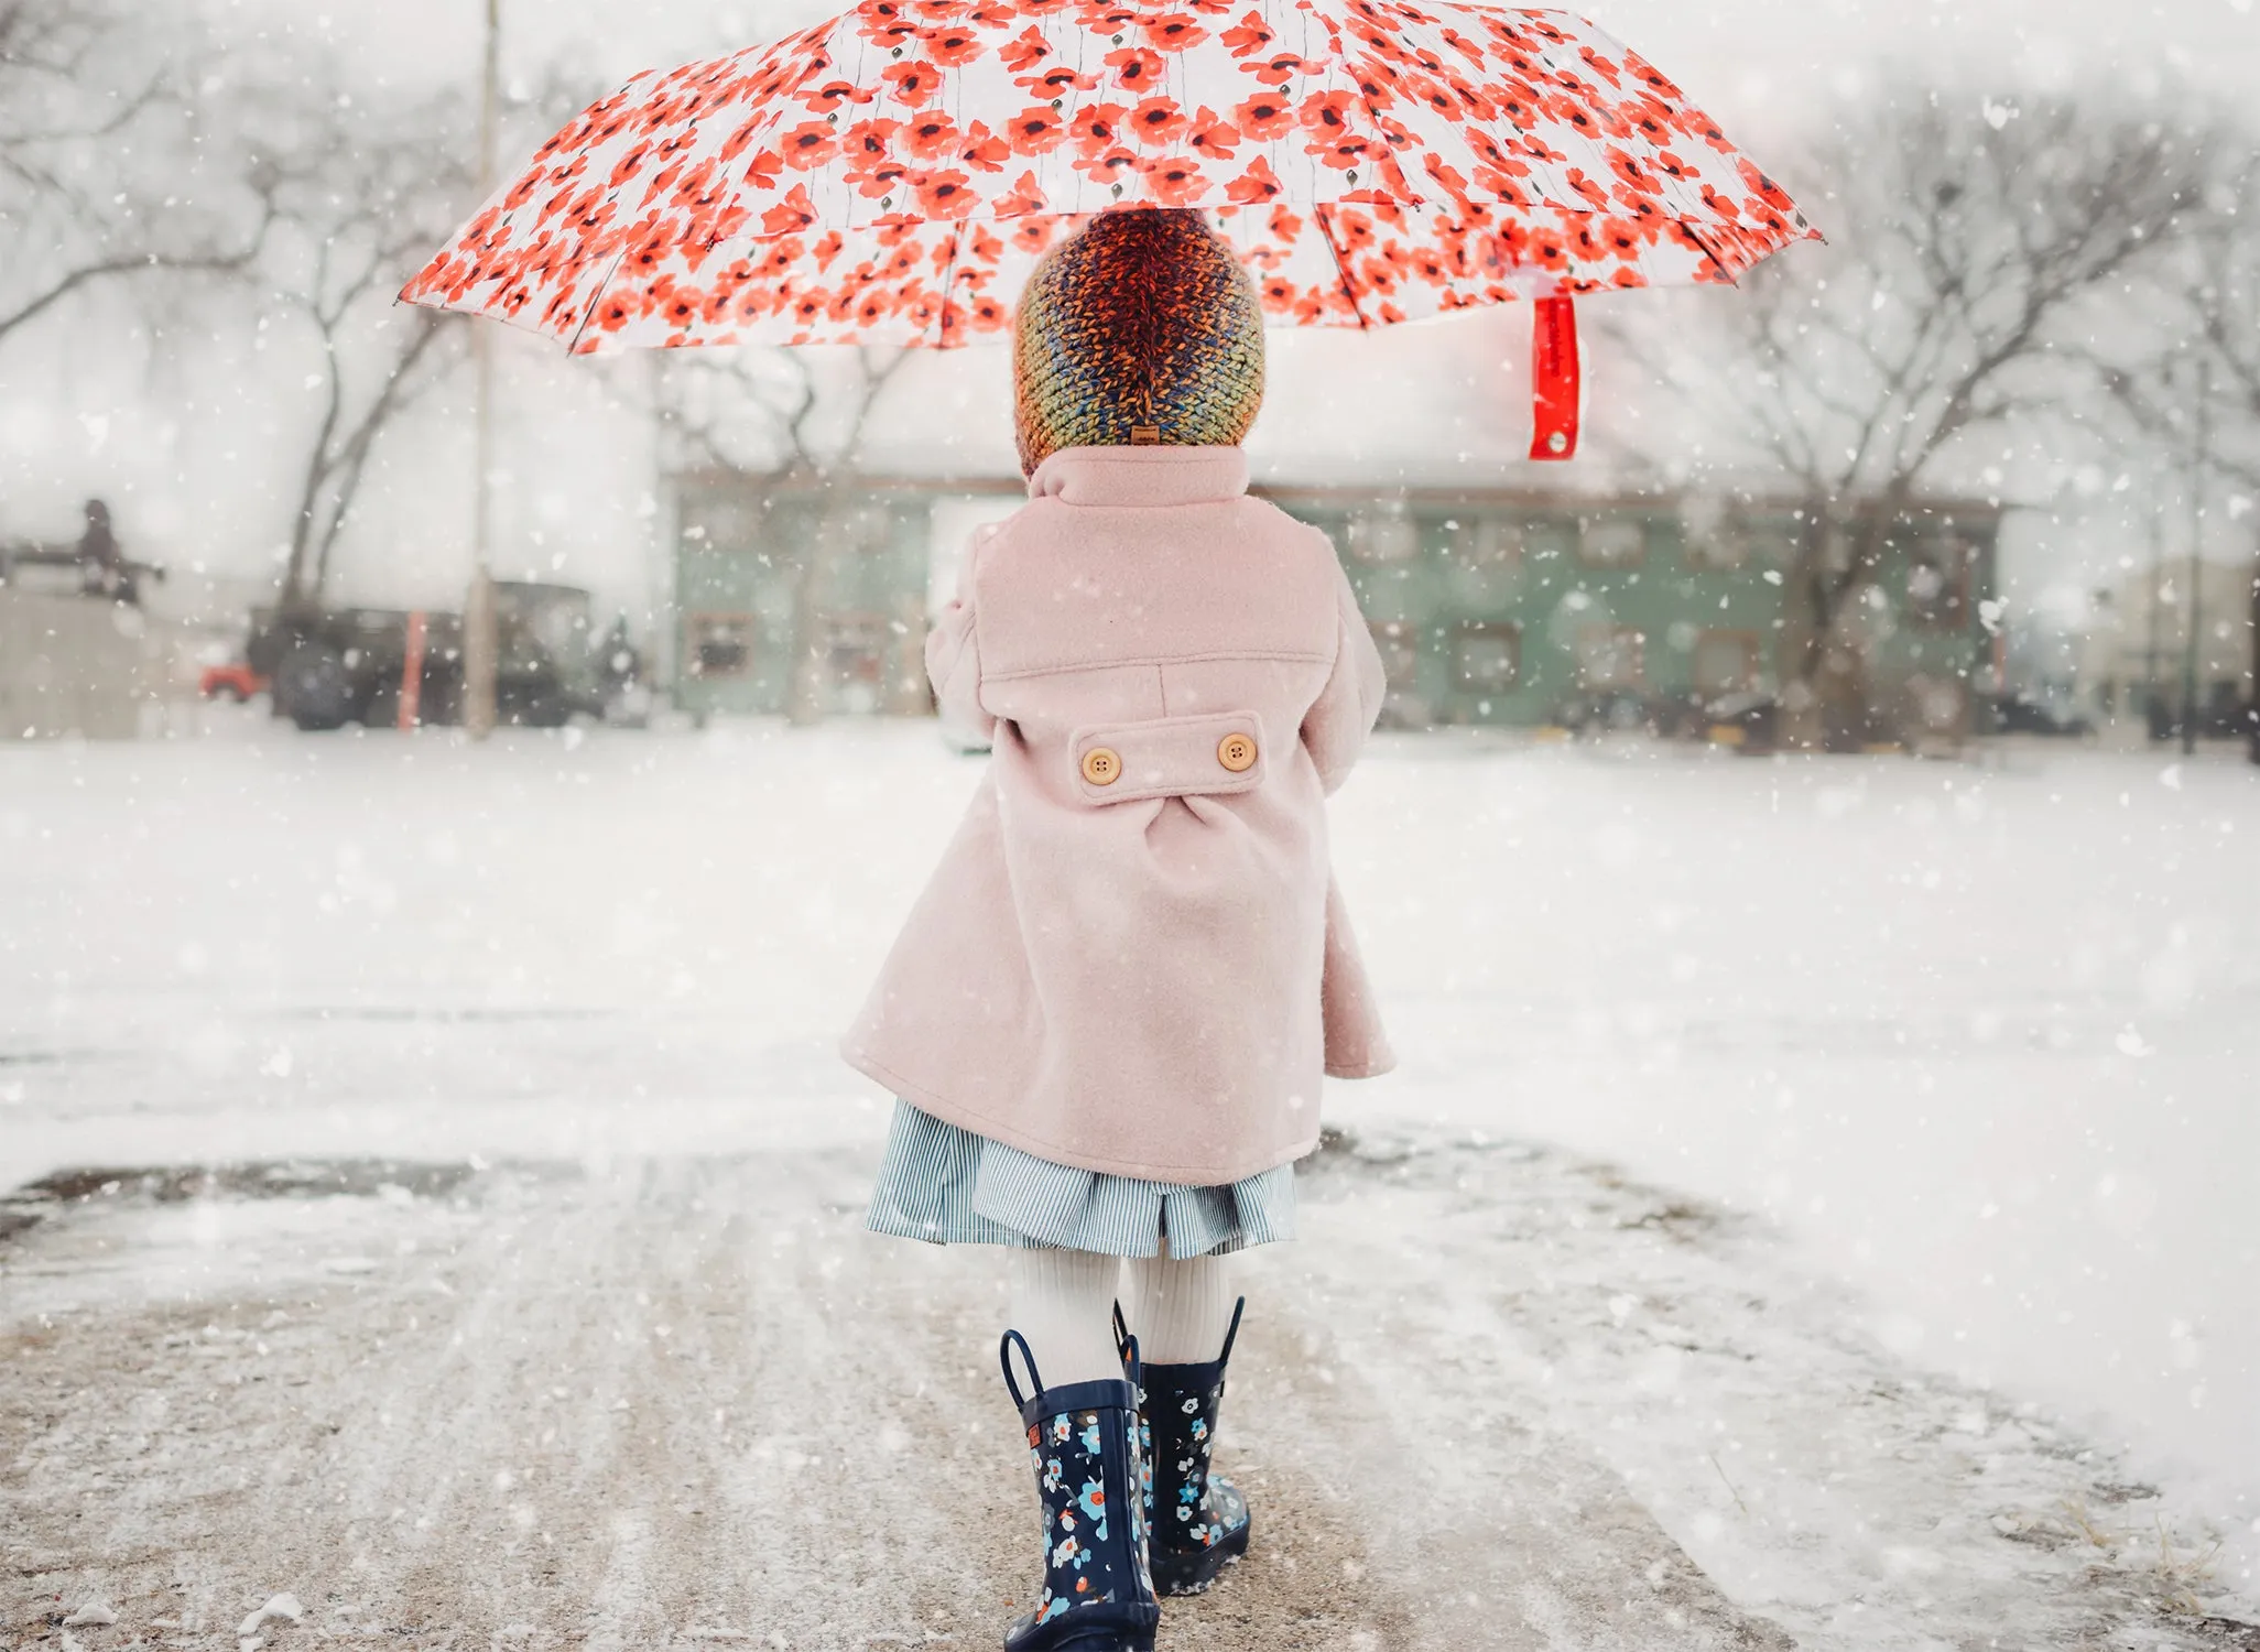
{"label": "white ribbed tights between striped skirt and navy boots", "polygon": [[1232,1324],[1227,1257],[1098,1257],[1087,1250],[1015,1250],[1012,1329],[1028,1338],[1046,1388],[1121,1376],[1114,1302],[1139,1358],[1205,1365],[1225,1351]]}

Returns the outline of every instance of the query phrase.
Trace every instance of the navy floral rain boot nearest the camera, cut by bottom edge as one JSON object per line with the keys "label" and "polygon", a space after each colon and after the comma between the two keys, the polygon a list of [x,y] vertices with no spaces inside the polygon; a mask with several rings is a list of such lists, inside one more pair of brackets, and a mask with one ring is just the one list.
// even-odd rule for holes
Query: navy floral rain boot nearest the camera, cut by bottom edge
{"label": "navy floral rain boot nearest the camera, cut by bottom edge", "polygon": [[[1012,1349],[1028,1363],[1022,1399]],[[1146,1571],[1146,1498],[1137,1428],[1137,1345],[1128,1381],[1044,1388],[1019,1331],[997,1347],[1019,1406],[1044,1505],[1044,1593],[1006,1634],[1006,1652],[1153,1652],[1162,1602]]]}

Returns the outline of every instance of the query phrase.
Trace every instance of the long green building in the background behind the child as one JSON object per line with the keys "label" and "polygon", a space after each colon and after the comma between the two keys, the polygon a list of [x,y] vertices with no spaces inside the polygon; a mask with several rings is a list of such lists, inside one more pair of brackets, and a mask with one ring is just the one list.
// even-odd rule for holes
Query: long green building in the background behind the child
{"label": "long green building in the background behind the child", "polygon": [[[1333,538],[1388,662],[1397,725],[1704,725],[1772,696],[1797,646],[1788,592],[1806,522],[1792,504],[1263,493]],[[680,477],[678,705],[927,712],[927,617],[954,590],[972,529],[1022,497],[1017,481]],[[1980,725],[1998,527],[1998,508],[1964,502],[1892,524],[1840,626],[1835,698],[1853,705],[1831,723],[1844,741]]]}

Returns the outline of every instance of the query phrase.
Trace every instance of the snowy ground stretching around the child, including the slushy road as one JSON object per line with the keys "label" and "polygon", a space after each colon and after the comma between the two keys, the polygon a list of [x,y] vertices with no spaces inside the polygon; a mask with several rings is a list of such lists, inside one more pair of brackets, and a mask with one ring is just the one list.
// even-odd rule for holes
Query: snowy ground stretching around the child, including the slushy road
{"label": "snowy ground stretching around the child, including the slushy road", "polygon": [[[285,1589],[278,1647],[985,1645],[999,1293],[857,1232],[829,1058],[974,777],[0,748],[0,1184],[249,1166],[0,1207],[0,1645]],[[2260,1548],[2255,843],[2226,762],[1385,741],[1338,857],[1406,1071],[1252,1261],[1266,1541],[1171,1643],[2260,1645],[2206,1623]]]}

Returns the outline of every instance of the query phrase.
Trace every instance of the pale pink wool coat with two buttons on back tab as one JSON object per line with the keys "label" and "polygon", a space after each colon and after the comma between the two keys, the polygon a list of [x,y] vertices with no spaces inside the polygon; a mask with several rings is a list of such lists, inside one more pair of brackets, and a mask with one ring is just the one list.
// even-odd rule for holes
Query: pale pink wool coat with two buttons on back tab
{"label": "pale pink wool coat with two buttons on back tab", "polygon": [[[1327,859],[1383,671],[1238,447],[1069,447],[927,642],[988,777],[847,1060],[992,1141],[1220,1186],[1392,1058]],[[1094,757],[1096,753],[1096,757]]]}

